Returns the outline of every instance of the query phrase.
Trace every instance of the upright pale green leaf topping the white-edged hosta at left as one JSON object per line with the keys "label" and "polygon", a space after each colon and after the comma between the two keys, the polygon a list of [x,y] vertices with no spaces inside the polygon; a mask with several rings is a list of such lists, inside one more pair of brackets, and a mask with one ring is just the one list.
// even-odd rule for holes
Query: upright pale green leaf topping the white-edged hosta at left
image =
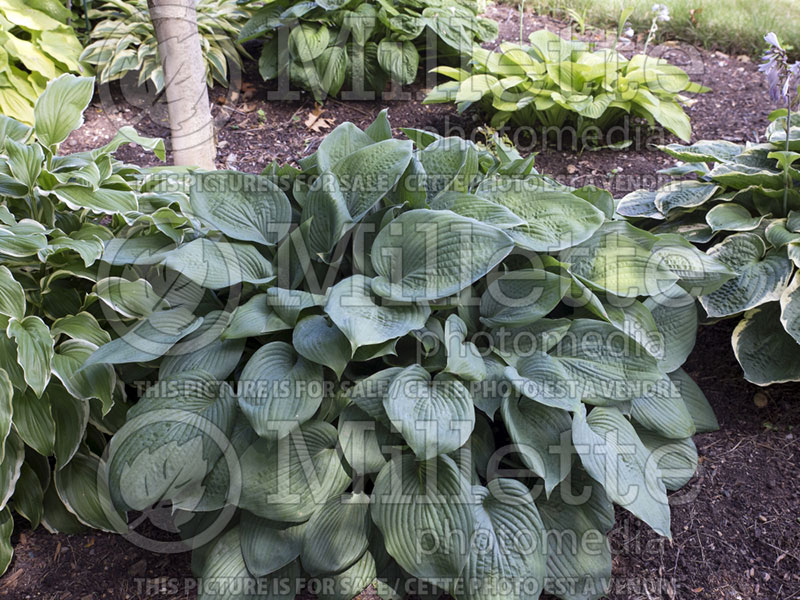
{"label": "upright pale green leaf topping the white-edged hosta at left", "polygon": [[60,144],[81,126],[93,94],[93,77],[64,74],[47,83],[33,109],[36,137],[43,146]]}

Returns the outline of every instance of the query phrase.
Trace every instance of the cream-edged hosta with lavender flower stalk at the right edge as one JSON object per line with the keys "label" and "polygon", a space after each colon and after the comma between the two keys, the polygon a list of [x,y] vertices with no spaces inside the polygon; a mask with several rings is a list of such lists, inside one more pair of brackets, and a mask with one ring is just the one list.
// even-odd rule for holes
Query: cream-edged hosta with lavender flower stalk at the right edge
{"label": "cream-edged hosta with lavender flower stalk at the right edge", "polygon": [[743,316],[733,348],[745,377],[759,385],[800,380],[800,119],[792,118],[788,150],[785,122],[775,120],[762,144],[662,148],[683,161],[666,171],[679,179],[633,192],[618,207],[654,232],[708,245],[734,274],[700,302],[711,319]]}

